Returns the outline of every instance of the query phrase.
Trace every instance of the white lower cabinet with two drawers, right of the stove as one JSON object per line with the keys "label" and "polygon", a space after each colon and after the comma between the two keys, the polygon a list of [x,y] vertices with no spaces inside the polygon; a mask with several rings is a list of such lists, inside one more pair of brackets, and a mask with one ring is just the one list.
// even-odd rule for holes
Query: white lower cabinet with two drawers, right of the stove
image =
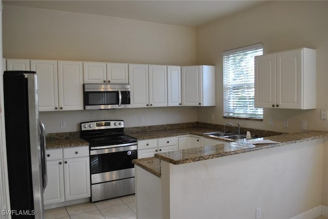
{"label": "white lower cabinet with two drawers, right of the stove", "polygon": [[138,158],[153,157],[158,152],[178,150],[177,137],[138,141]]}

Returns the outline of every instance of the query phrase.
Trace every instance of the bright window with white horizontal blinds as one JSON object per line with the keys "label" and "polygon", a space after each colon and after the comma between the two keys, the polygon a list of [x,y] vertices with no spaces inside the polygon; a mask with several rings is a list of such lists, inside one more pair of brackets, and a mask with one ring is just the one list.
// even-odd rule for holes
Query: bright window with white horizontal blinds
{"label": "bright window with white horizontal blinds", "polygon": [[254,56],[262,54],[262,43],[223,52],[224,116],[263,118],[254,107]]}

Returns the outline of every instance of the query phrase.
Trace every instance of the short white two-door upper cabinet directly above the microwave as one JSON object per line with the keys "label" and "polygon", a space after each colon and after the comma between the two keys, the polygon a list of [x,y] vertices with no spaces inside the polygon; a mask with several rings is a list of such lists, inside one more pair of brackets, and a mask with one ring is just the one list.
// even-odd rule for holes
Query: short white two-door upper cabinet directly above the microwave
{"label": "short white two-door upper cabinet directly above the microwave", "polygon": [[84,83],[129,83],[128,64],[83,62]]}

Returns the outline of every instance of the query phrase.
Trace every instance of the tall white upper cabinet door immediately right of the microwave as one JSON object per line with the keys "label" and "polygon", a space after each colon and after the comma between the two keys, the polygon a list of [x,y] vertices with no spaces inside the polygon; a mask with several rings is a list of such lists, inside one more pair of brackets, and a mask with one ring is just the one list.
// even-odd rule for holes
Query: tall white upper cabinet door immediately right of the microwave
{"label": "tall white upper cabinet door immediately right of the microwave", "polygon": [[149,107],[148,65],[129,64],[131,107]]}

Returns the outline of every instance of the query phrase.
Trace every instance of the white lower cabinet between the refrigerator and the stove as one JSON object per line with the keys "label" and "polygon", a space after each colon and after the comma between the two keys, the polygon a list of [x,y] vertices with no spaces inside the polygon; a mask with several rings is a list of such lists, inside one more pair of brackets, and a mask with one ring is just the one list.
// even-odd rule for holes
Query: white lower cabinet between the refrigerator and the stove
{"label": "white lower cabinet between the refrigerator and the stove", "polygon": [[44,204],[90,197],[89,146],[49,149]]}

